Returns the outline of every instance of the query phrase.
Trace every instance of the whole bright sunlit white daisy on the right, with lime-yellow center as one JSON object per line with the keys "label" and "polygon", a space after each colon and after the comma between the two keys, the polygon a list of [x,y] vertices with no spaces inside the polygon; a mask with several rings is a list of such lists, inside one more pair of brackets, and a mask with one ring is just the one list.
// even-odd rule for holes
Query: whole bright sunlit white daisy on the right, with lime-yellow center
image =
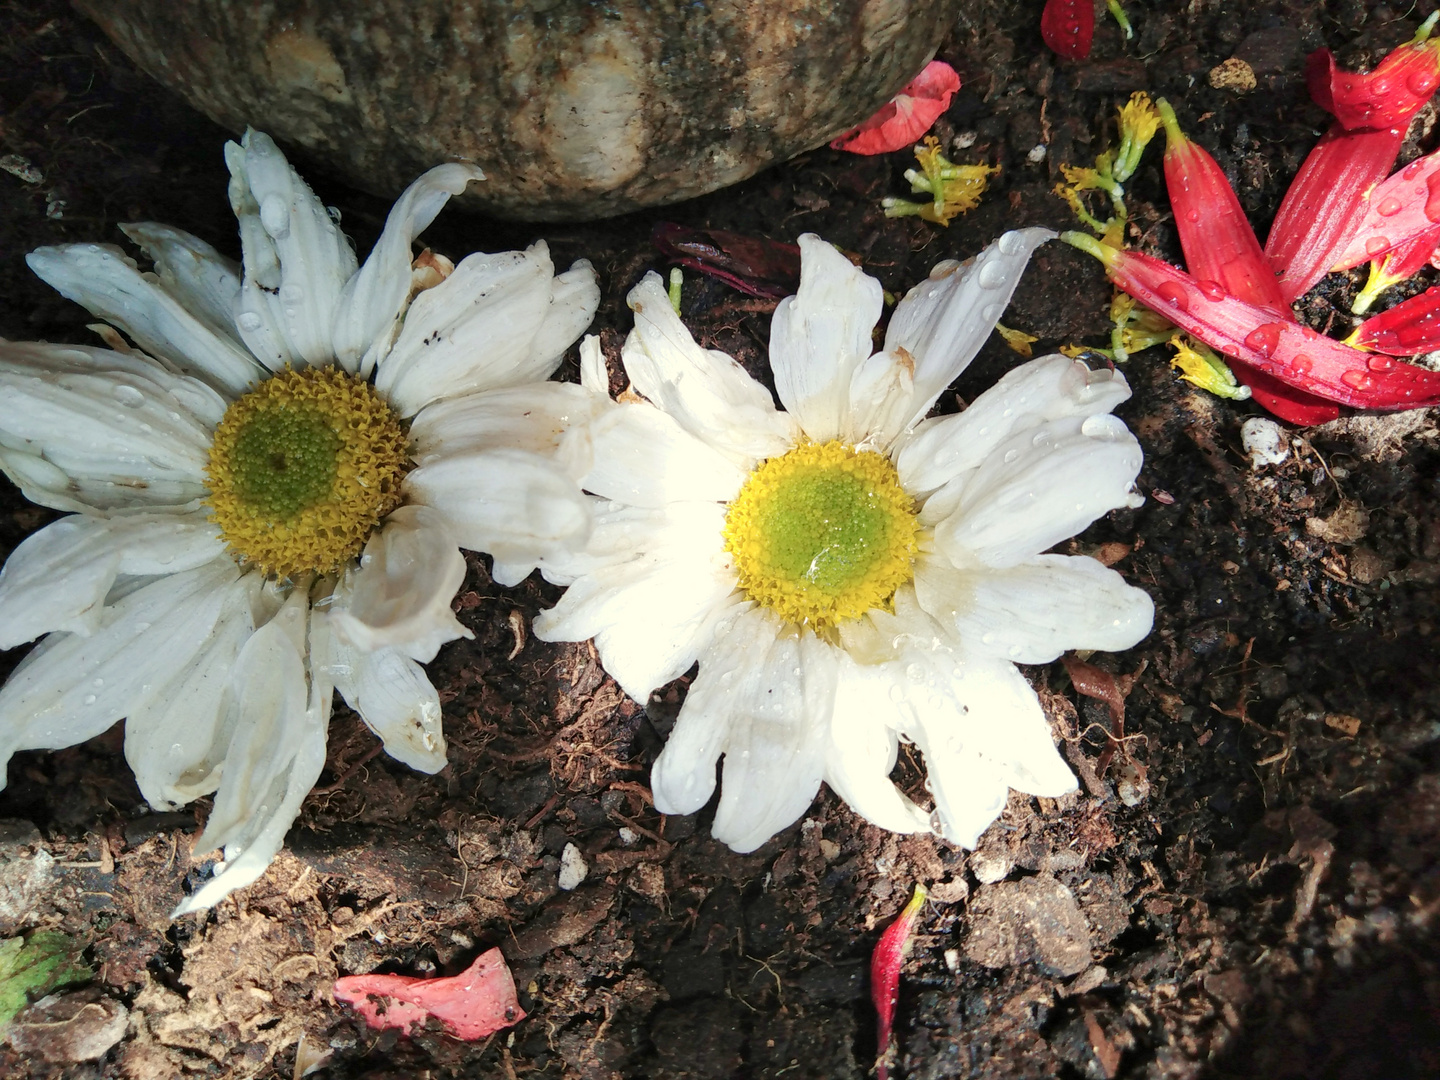
{"label": "whole bright sunlit white daisy on the right, with lime-yellow center", "polygon": [[[570,588],[536,635],[593,636],[638,701],[700,661],[651,776],[658,811],[700,809],[723,755],[714,835],[736,851],[793,822],[821,780],[877,825],[973,847],[1008,788],[1076,786],[1015,662],[1151,629],[1151,599],[1117,573],[1043,554],[1139,504],[1140,448],[1109,415],[1129,387],[1048,356],[924,419],[1053,236],[1009,232],[936,266],[881,351],[880,282],[802,236],[799,294],[770,325],[785,410],[694,343],[657,275],[631,292],[624,363],[648,400],[592,423],[595,531],[543,567]],[[605,386],[593,338],[582,370]],[[888,779],[901,739],[924,755],[933,815]]]}

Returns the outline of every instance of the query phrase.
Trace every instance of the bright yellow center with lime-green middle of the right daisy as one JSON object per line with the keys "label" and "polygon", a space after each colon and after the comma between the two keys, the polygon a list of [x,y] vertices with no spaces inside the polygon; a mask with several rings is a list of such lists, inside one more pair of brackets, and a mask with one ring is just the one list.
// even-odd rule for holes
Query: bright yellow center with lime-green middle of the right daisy
{"label": "bright yellow center with lime-green middle of the right daisy", "polygon": [[827,631],[888,606],[910,580],[917,527],[888,458],[808,442],[750,474],[724,540],[752,600]]}

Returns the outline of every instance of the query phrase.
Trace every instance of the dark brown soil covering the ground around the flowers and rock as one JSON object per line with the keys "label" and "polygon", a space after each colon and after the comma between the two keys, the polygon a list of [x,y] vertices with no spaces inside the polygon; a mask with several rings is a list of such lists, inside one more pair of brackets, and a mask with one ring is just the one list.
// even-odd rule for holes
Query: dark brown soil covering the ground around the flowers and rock
{"label": "dark brown soil covering the ground around the flowers and rock", "polygon": [[[814,230],[901,291],[1005,228],[1067,228],[1050,193],[1058,164],[1089,164],[1135,89],[1171,99],[1263,235],[1325,125],[1305,53],[1329,45],[1374,62],[1431,7],[1130,3],[1135,42],[1102,22],[1090,60],[1071,65],[1043,49],[1038,1],[976,3],[940,50],[965,88],[939,134],[973,134],[956,158],[1002,173],[949,229],[881,215],[881,196],[904,194],[907,153],[819,150],[652,215],[537,228],[448,210],[426,240],[459,256],[543,236],[557,264],[590,258],[613,357],[625,292],[664,269],[657,220],[783,240]],[[118,222],[154,219],[239,253],[220,158],[232,132],[58,0],[0,4],[0,153],[43,174],[0,174],[0,333],[94,340],[88,315],[26,269],[42,243],[121,242]],[[1231,56],[1256,91],[1211,88]],[[1433,148],[1433,121],[1421,114],[1407,153]],[[1032,163],[1040,144],[1048,156]],[[328,181],[323,163],[298,166],[367,249],[386,204]],[[1158,145],[1130,206],[1130,242],[1179,261]],[[1344,325],[1329,298],[1354,288],[1332,278],[1306,317]],[[1050,245],[1005,323],[1038,348],[1103,344],[1109,298],[1093,261]],[[757,374],[770,308],[687,279],[697,337]],[[1014,363],[994,338],[956,393],[973,397]],[[334,1050],[330,1077],[863,1077],[877,1050],[867,958],[924,881],[936,903],[906,965],[893,1074],[1440,1076],[1433,418],[1297,431],[1284,464],[1253,469],[1238,429],[1254,406],[1191,390],[1159,353],[1126,376],[1135,397],[1120,415],[1145,445],[1148,500],[1070,549],[1100,553],[1158,605],[1139,648],[1090,658],[1138,675],[1117,752],[1104,707],[1061,664],[1027,671],[1080,795],[1012,796],[968,854],[881,832],[824,792],[801,824],[736,855],[708,840],[708,812],[661,818],[648,802],[685,680],[628,701],[588,645],[527,636],[554,589],[501,589],[472,557],[456,605],[475,639],[429,667],[449,768],[420,776],[376,756],[337,707],[327,773],[287,852],[206,917],[171,924],[167,912],[209,865],[190,854],[209,806],[147,812],[120,729],[14,759],[0,936],[53,926],[89,942],[96,985],[131,1009],[131,1028],[101,1061],[63,1070],[0,1050],[0,1074],[288,1077],[304,1032]],[[9,487],[3,505],[0,552],[53,517]],[[901,770],[919,793],[916,762]],[[590,873],[560,893],[567,842]],[[376,1035],[328,995],[337,975],[449,973],[492,945],[530,1015],[484,1044]]]}

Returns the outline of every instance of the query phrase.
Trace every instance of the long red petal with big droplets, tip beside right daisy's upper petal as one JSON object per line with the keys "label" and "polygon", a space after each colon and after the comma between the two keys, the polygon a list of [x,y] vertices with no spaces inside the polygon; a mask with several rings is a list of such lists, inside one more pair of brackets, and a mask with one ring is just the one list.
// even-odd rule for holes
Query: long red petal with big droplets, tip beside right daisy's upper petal
{"label": "long red petal with big droplets, tip beside right daisy's upper petal", "polygon": [[[1089,236],[1081,238],[1084,242],[1094,245]],[[1287,386],[1356,409],[1398,410],[1440,403],[1440,372],[1405,363],[1378,370],[1371,364],[1372,353],[1297,323],[1280,321],[1274,311],[1237,297],[1212,300],[1198,281],[1168,262],[1100,245],[1084,249],[1099,253],[1110,281],[1145,307],[1211,348]],[[1164,292],[1162,285],[1168,287]],[[1176,287],[1184,288],[1179,302]]]}

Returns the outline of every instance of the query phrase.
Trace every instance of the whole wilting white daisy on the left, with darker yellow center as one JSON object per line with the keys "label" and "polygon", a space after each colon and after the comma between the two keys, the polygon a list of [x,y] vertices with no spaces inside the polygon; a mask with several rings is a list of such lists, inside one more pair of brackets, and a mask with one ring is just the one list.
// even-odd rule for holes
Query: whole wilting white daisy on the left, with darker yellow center
{"label": "whole wilting white daisy on the left, with darker yellow center", "polygon": [[0,690],[0,785],[16,750],[124,717],[153,806],[215,792],[197,851],[225,860],[176,914],[279,851],[333,690],[392,756],[445,768],[420,664],[471,636],[458,549],[523,576],[590,527],[583,432],[559,444],[595,399],[544,382],[595,315],[590,265],[556,276],[544,243],[471,255],[412,300],[412,242],[478,168],[416,180],[357,266],[269,137],[225,156],[243,271],[153,223],[124,226],[153,274],[42,248],[35,272],[144,351],[111,327],[114,350],[0,343],[0,467],[71,511],[0,573],[0,648],[48,635]]}

